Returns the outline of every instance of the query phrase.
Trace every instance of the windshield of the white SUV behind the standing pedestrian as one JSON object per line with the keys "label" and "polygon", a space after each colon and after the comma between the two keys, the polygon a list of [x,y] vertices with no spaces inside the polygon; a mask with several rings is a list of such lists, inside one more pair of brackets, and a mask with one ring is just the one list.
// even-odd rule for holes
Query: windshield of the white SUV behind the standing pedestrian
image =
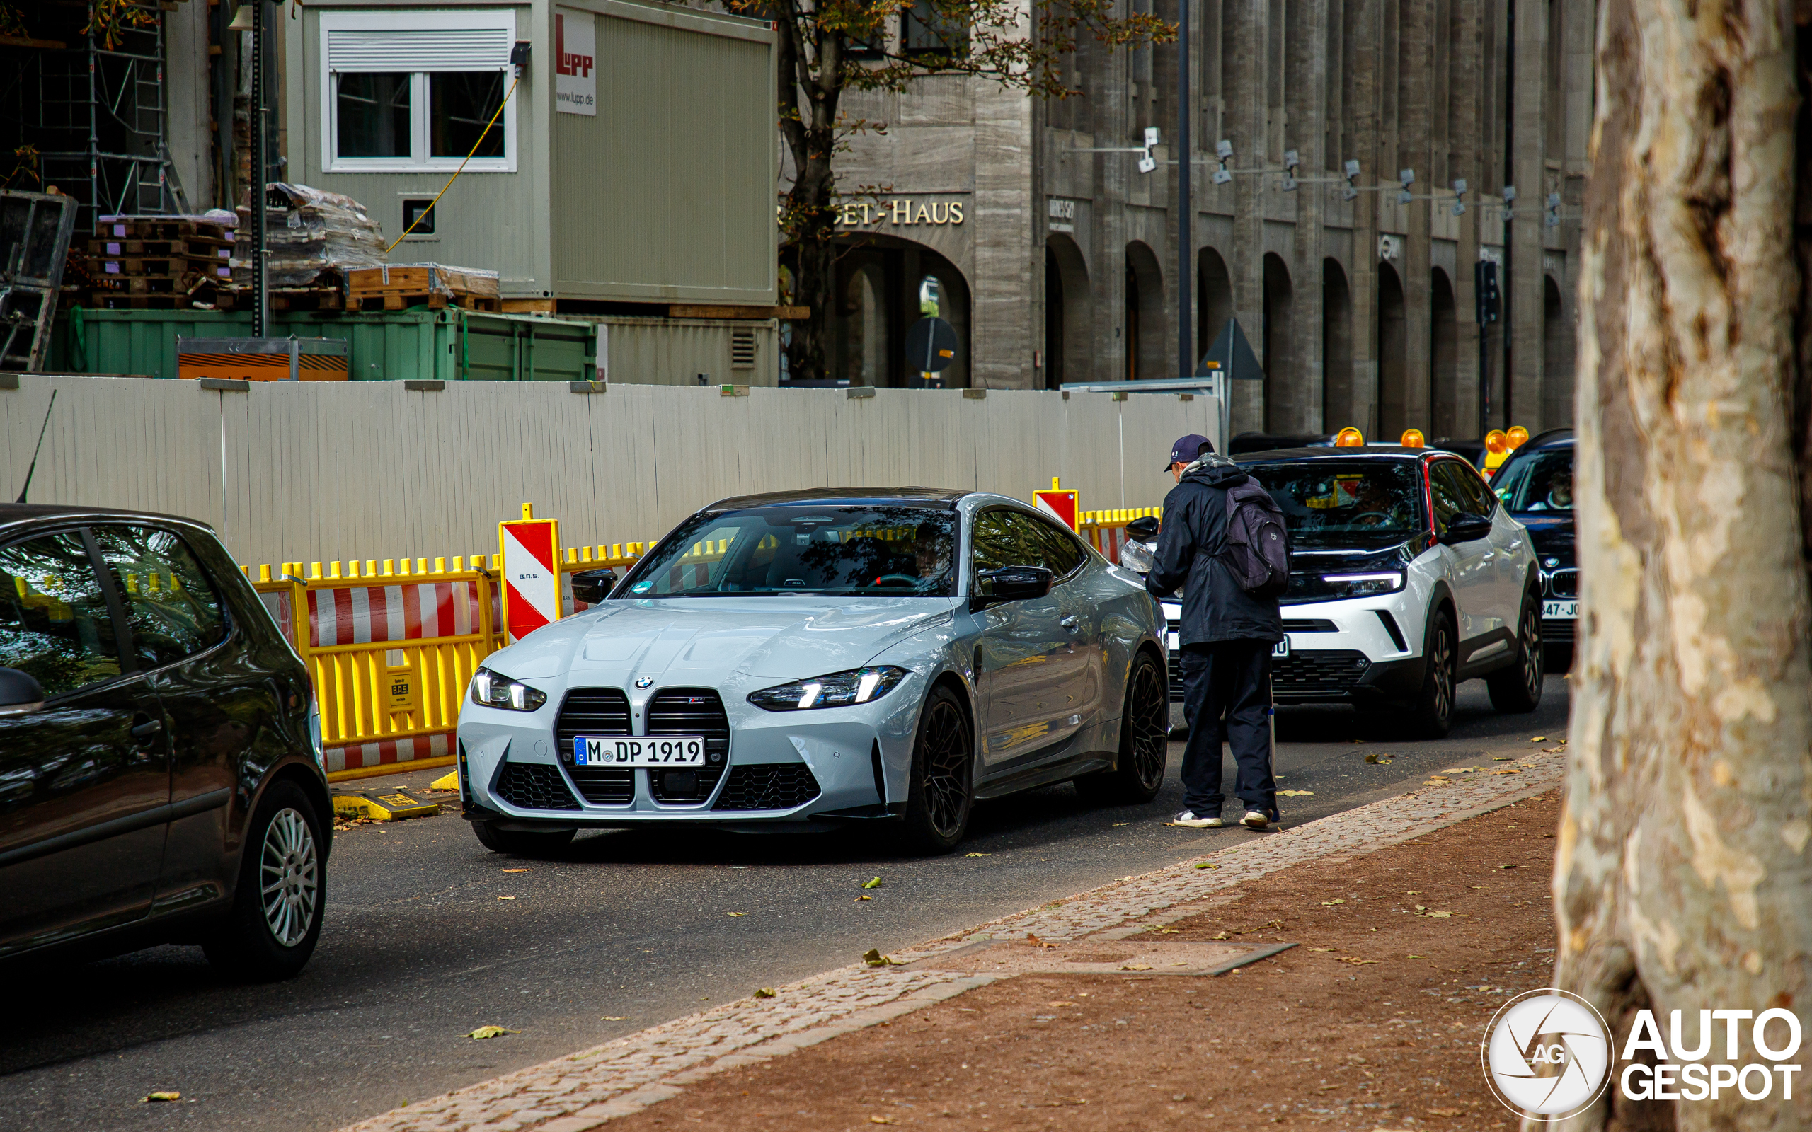
{"label": "windshield of the white SUV behind the standing pedestrian", "polygon": [[1247,471],[1283,509],[1297,547],[1402,540],[1426,531],[1415,460],[1310,460]]}

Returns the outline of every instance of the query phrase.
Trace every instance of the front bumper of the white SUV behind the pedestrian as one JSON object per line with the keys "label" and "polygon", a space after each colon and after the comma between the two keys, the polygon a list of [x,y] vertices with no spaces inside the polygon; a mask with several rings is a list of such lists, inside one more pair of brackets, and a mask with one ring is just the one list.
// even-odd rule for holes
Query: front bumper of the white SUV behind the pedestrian
{"label": "front bumper of the white SUV behind the pedestrian", "polygon": [[[1169,619],[1171,699],[1183,699],[1176,628],[1181,607],[1163,603]],[[1413,590],[1310,601],[1283,607],[1290,656],[1274,657],[1274,703],[1384,705],[1422,686],[1426,605]]]}

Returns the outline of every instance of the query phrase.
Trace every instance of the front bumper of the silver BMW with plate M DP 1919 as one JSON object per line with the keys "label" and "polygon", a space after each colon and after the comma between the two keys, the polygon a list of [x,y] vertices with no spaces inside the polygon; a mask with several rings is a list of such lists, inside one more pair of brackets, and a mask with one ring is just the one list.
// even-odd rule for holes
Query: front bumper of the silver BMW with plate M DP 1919
{"label": "front bumper of the silver BMW with plate M DP 1919", "polygon": [[[725,686],[718,692],[730,724],[728,752],[719,766],[696,772],[696,791],[672,790],[667,775],[674,770],[574,768],[556,737],[564,690],[549,692],[538,712],[467,703],[458,724],[462,813],[506,830],[897,817],[926,686],[913,674],[872,705],[806,712],[765,712],[743,699],[752,688]],[[647,705],[663,690],[632,692],[631,703]],[[645,712],[632,726],[638,735],[640,717]]]}

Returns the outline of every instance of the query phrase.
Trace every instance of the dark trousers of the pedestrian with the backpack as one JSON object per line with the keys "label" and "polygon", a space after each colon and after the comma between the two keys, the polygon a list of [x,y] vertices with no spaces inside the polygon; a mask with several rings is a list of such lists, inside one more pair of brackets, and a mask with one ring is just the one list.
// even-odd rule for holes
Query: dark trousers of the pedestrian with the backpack
{"label": "dark trousers of the pedestrian with the backpack", "polygon": [[1270,641],[1185,645],[1183,808],[1214,817],[1221,793],[1221,743],[1239,764],[1234,791],[1247,810],[1277,819],[1277,781],[1270,772]]}

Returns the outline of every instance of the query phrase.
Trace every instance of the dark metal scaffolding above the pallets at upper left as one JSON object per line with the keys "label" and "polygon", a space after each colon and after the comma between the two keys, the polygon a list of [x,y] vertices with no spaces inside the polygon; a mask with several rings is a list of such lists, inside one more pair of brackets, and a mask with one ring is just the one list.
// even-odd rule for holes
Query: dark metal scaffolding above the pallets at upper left
{"label": "dark metal scaffolding above the pallets at upper left", "polygon": [[0,107],[0,138],[18,138],[7,149],[36,150],[40,185],[78,201],[78,230],[101,216],[188,212],[165,145],[158,0],[53,2],[29,20],[31,40],[0,36],[0,69],[22,62]]}

